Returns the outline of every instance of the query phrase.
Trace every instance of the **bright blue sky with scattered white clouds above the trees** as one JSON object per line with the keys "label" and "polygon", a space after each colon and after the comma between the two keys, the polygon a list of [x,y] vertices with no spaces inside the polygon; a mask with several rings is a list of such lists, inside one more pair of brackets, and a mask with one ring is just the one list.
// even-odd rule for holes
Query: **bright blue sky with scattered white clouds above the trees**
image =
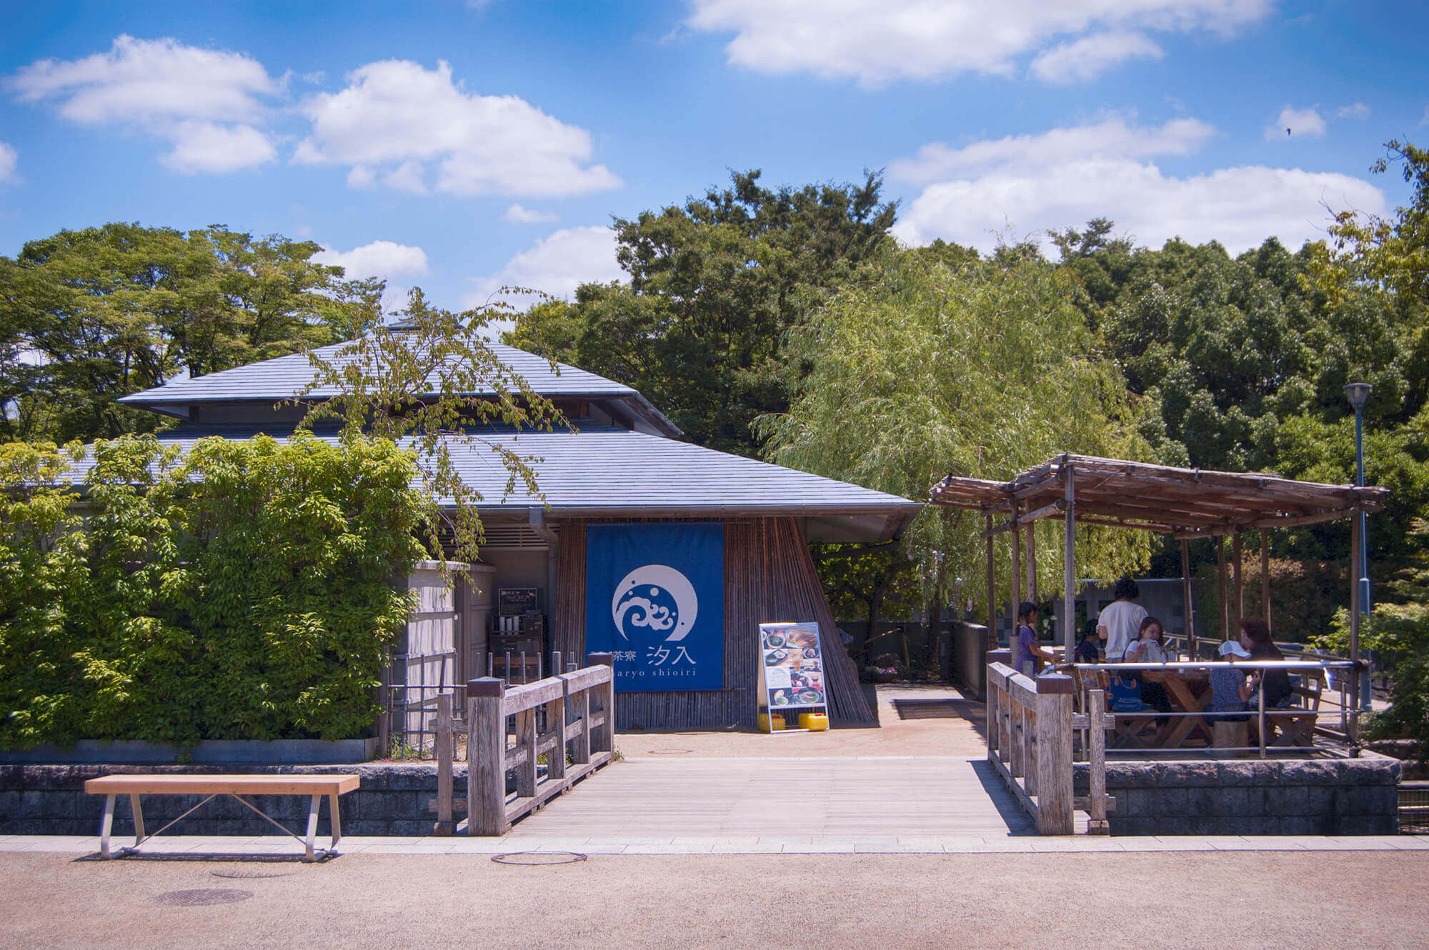
{"label": "bright blue sky with scattered white clouds above the trees", "polygon": [[[1298,247],[1405,199],[1429,7],[1275,0],[7,4],[0,254],[111,220],[309,237],[470,306],[617,279],[612,216],[886,169],[896,234],[1112,217]],[[1285,129],[1290,129],[1286,134]]]}

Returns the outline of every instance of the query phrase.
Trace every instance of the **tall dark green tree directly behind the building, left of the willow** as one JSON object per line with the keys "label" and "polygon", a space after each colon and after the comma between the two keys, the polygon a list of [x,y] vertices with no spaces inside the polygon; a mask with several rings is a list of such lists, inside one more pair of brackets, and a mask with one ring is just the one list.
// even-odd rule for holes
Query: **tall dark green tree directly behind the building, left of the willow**
{"label": "tall dark green tree directly behind the building, left of the willow", "polygon": [[702,446],[757,454],[755,417],[800,373],[785,334],[885,240],[882,177],[766,189],[736,173],[683,206],[616,219],[629,284],[582,284],[522,314],[506,341],[640,390]]}

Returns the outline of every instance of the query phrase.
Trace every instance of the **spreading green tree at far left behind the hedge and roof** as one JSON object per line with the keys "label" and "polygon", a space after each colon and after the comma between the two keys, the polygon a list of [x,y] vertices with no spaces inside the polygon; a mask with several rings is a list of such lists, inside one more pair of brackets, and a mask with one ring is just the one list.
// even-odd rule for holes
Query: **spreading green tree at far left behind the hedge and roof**
{"label": "spreading green tree at far left behind the hedge and roof", "polygon": [[357,336],[382,281],[313,241],[106,224],[0,257],[0,439],[111,439],[161,420],[117,400]]}

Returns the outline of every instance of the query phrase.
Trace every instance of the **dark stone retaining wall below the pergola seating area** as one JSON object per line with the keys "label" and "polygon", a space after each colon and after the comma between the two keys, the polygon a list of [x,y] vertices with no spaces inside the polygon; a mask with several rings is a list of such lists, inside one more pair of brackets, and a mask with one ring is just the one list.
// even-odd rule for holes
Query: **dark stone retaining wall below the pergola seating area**
{"label": "dark stone retaining wall below the pergola seating area", "polygon": [[[1086,794],[1087,766],[1075,767]],[[1399,761],[1109,761],[1112,834],[1396,834]]]}

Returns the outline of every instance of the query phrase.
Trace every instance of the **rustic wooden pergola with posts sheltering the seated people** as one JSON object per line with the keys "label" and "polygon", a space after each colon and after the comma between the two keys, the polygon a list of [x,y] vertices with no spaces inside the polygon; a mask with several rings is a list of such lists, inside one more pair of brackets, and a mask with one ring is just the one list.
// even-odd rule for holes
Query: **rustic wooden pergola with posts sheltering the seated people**
{"label": "rustic wooden pergola with posts sheltering the seated people", "polygon": [[[1222,633],[1242,617],[1242,534],[1260,531],[1260,603],[1270,624],[1270,571],[1268,531],[1276,527],[1319,524],[1350,519],[1352,564],[1362,563],[1365,539],[1360,511],[1375,513],[1383,506],[1388,489],[1349,484],[1293,481],[1258,473],[1177,469],[1142,461],[1063,454],[1023,471],[1012,481],[989,481],[949,474],[932,489],[930,501],[983,513],[987,540],[987,629],[996,630],[996,559],[993,540],[1007,533],[1012,540],[1012,603],[1023,599],[1022,576],[1026,571],[1027,600],[1036,600],[1036,537],[1033,526],[1042,519],[1063,520],[1063,603],[1062,639],[1066,661],[1072,663],[1076,631],[1072,629],[1076,584],[1077,524],[1139,529],[1170,534],[1180,541],[1182,586],[1186,600],[1186,633],[1196,656],[1196,629],[1190,593],[1190,541],[1216,540],[1219,564]],[[1230,584],[1226,597],[1225,539],[1230,537]],[[1026,549],[1026,557],[1023,557]],[[1352,571],[1352,577],[1358,571]],[[1359,660],[1359,583],[1350,584],[1350,657]]]}

